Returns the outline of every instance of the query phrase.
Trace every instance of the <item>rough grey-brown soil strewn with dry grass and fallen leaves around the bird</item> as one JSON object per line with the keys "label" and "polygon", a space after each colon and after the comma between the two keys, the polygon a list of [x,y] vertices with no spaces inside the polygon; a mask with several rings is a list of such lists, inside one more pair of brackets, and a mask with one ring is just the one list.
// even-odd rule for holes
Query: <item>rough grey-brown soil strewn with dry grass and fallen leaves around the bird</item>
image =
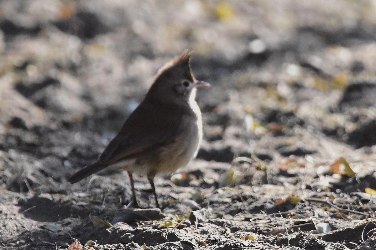
{"label": "rough grey-brown soil strewn with dry grass and fallen leaves around the bird", "polygon": [[[376,249],[375,1],[0,1],[0,249]],[[197,159],[67,177],[185,49]],[[147,122],[147,121],[145,121]],[[343,158],[340,158],[343,157]],[[352,172],[352,170],[354,172]]]}

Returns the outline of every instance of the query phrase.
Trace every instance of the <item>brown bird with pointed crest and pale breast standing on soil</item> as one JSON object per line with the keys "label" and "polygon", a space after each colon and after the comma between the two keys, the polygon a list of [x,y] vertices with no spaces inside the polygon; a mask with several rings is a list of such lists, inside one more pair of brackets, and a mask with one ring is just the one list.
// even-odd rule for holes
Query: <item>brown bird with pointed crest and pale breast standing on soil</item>
{"label": "brown bird with pointed crest and pale breast standing on soil", "polygon": [[98,160],[68,178],[73,184],[104,168],[123,169],[129,176],[133,207],[136,201],[133,174],[147,177],[155,204],[156,174],[182,168],[197,156],[202,141],[202,115],[195,100],[198,81],[190,67],[191,50],[185,50],[158,70],[143,101],[129,115],[120,132]]}

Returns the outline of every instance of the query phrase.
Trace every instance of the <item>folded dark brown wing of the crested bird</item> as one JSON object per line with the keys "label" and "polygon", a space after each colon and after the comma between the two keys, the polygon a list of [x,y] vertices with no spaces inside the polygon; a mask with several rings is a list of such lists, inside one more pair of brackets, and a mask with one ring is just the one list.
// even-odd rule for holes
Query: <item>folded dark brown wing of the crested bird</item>
{"label": "folded dark brown wing of the crested bird", "polygon": [[[157,107],[158,106],[158,107]],[[120,132],[99,157],[99,162],[110,165],[120,159],[170,144],[179,133],[186,108],[150,102],[141,103],[125,121]]]}

